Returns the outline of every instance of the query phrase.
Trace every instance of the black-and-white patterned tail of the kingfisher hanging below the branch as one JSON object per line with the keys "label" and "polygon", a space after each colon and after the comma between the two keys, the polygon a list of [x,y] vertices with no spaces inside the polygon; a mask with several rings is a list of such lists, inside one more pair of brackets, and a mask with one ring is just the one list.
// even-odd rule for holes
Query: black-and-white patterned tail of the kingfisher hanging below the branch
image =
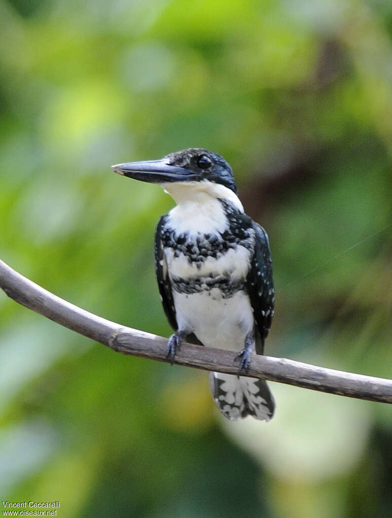
{"label": "black-and-white patterned tail of the kingfisher hanging below the branch", "polygon": [[275,400],[264,380],[210,372],[209,387],[217,407],[231,421],[247,415],[270,421],[274,415]]}

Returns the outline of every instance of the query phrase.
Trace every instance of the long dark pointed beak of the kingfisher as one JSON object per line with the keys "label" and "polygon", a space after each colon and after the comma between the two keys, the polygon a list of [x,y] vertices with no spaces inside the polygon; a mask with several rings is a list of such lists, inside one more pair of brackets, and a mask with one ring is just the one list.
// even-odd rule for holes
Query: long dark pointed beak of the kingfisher
{"label": "long dark pointed beak of the kingfisher", "polygon": [[167,159],[129,162],[111,168],[119,175],[150,183],[185,182],[199,178],[191,169],[169,164]]}

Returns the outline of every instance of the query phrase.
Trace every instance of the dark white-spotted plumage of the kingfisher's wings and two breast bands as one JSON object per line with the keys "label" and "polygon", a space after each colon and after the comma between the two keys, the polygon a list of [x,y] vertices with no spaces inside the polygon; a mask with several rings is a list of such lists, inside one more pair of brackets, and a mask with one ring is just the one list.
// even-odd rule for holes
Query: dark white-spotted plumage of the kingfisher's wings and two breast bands
{"label": "dark white-spotted plumage of the kingfisher's wings and two breast bands", "polygon": [[[189,233],[177,234],[175,229],[168,226],[167,215],[160,219],[155,238],[156,271],[163,308],[170,324],[176,329],[172,289],[178,293],[193,294],[209,292],[217,287],[223,298],[230,297],[239,290],[244,290],[249,294],[254,310],[257,327],[256,352],[263,354],[264,340],[271,328],[275,303],[268,236],[263,227],[255,223],[248,215],[232,207],[225,200],[220,199],[219,202],[228,220],[228,228],[219,235],[198,233],[197,237],[191,239]],[[164,248],[173,249],[175,257],[184,254],[189,263],[194,263],[197,268],[200,268],[206,257],[217,259],[229,249],[235,249],[237,246],[243,246],[253,251],[246,282],[230,282],[225,272],[220,276],[194,276],[188,279],[174,277],[170,281],[168,273],[166,272],[164,275],[163,266],[160,264],[163,261]]]}

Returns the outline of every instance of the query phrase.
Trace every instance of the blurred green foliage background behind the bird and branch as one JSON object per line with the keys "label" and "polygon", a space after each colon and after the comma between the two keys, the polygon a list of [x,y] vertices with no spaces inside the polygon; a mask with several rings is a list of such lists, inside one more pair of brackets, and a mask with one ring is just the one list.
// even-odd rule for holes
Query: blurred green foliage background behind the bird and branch
{"label": "blurred green foliage background behind the bird and branch", "polygon": [[[270,235],[267,354],[392,377],[392,4],[0,0],[1,258],[169,335],[152,240],[173,205],[110,165],[190,146]],[[356,246],[355,246],[356,245]],[[387,405],[272,384],[223,422],[203,372],[115,354],[0,296],[2,499],[59,515],[391,515]]]}

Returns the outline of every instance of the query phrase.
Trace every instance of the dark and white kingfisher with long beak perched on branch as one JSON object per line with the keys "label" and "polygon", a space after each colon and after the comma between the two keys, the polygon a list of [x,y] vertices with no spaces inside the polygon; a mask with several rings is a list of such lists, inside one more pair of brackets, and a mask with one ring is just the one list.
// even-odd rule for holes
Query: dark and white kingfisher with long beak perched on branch
{"label": "dark and white kingfisher with long beak perched on branch", "polygon": [[263,354],[274,314],[268,235],[245,214],[230,165],[218,153],[189,148],[161,160],[112,166],[120,175],[158,183],[176,206],[155,233],[161,301],[174,333],[173,363],[181,341],[234,351],[238,374],[209,373],[214,401],[227,419],[269,421],[275,401],[264,380],[241,376],[252,353]]}

